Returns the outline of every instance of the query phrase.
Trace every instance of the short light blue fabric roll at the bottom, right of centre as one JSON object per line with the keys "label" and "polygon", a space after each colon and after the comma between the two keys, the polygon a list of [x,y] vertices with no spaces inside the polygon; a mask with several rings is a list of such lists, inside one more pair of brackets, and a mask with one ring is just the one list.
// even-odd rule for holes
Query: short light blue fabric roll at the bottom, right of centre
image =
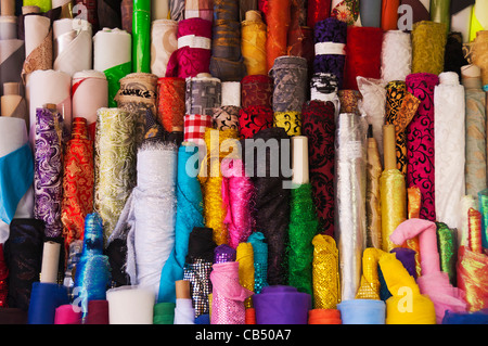
{"label": "short light blue fabric roll at the bottom, right of centre", "polygon": [[350,299],[337,305],[343,324],[385,324],[386,304],[374,299]]}

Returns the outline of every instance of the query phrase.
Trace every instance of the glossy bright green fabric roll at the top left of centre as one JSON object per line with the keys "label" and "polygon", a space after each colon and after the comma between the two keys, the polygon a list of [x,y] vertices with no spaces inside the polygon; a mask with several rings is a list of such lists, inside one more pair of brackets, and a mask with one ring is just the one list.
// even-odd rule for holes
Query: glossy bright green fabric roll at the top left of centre
{"label": "glossy bright green fabric roll at the top left of centre", "polygon": [[151,73],[151,0],[134,0],[132,72]]}

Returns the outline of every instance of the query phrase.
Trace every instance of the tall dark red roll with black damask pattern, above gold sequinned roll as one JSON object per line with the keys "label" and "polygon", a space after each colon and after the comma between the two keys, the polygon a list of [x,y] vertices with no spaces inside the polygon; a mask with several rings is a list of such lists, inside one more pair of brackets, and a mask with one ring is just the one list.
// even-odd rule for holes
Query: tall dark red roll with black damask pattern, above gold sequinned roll
{"label": "tall dark red roll with black damask pattern, above gold sequinned roll", "polygon": [[308,138],[308,157],[312,197],[320,232],[334,234],[334,139],[335,107],[332,102],[304,104],[301,133]]}

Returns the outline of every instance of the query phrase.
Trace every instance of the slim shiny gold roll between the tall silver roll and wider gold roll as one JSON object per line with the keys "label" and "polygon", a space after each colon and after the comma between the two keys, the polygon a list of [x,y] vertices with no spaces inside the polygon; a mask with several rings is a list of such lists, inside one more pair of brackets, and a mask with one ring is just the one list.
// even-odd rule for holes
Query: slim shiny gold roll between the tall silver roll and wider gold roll
{"label": "slim shiny gold roll between the tall silver roll and wider gold roll", "polygon": [[380,177],[382,162],[374,138],[368,139],[367,162],[367,246],[382,248]]}

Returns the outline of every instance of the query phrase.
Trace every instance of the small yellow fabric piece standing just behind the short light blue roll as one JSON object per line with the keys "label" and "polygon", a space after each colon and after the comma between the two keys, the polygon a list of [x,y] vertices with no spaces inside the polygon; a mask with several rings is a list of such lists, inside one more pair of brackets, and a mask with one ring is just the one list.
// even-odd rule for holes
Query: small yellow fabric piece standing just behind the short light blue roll
{"label": "small yellow fabric piece standing just behind the short light blue roll", "polygon": [[386,252],[368,247],[362,255],[362,277],[356,299],[380,299],[380,279],[377,264]]}

